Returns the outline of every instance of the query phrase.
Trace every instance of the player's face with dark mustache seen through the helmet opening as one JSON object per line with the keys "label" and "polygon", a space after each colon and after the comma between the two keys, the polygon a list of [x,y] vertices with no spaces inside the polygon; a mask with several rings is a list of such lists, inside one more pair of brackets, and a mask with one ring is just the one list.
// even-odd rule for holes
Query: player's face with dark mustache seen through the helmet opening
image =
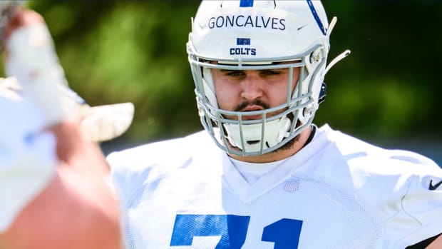
{"label": "player's face with dark mustache seen through the helmet opening", "polygon": [[[212,68],[218,106],[227,111],[259,111],[279,106],[287,101],[289,69],[223,70]],[[299,68],[293,69],[293,92],[299,78]],[[267,117],[277,113],[269,113]],[[226,118],[237,119],[236,116]],[[262,116],[247,116],[248,119]],[[246,118],[245,118],[246,119]]]}

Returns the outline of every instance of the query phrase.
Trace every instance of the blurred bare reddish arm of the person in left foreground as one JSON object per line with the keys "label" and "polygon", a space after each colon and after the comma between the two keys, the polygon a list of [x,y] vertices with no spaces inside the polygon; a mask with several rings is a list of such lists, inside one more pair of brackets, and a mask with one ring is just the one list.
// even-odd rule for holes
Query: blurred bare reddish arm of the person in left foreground
{"label": "blurred bare reddish arm of the person in left foreground", "polygon": [[82,138],[77,123],[63,121],[51,131],[57,168],[0,234],[0,248],[120,248],[118,203],[106,184],[101,151]]}

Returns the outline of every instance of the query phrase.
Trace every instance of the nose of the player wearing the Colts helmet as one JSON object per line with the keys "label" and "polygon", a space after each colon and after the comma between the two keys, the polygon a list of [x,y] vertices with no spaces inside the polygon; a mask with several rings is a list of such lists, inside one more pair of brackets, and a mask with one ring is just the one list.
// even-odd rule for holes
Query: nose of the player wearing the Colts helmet
{"label": "nose of the player wearing the Colts helmet", "polygon": [[253,101],[264,94],[264,80],[259,77],[259,72],[257,71],[248,71],[241,82],[241,86],[241,97],[247,101]]}

